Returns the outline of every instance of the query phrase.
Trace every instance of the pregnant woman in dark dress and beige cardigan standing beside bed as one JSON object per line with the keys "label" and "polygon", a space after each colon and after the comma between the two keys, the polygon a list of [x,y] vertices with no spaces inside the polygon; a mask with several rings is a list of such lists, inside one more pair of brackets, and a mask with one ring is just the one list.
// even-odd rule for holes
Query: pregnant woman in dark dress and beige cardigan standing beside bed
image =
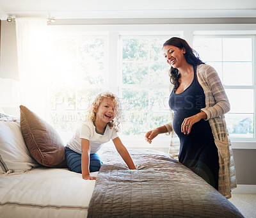
{"label": "pregnant woman in dark dress and beige cardigan standing beside bed", "polygon": [[[171,65],[172,121],[150,130],[145,139],[151,143],[158,134],[177,134],[179,162],[230,198],[231,188],[236,187],[236,176],[223,115],[230,110],[230,104],[220,78],[212,66],[195,56],[195,51],[182,38],[166,41],[163,54]],[[172,157],[173,148],[171,143]]]}

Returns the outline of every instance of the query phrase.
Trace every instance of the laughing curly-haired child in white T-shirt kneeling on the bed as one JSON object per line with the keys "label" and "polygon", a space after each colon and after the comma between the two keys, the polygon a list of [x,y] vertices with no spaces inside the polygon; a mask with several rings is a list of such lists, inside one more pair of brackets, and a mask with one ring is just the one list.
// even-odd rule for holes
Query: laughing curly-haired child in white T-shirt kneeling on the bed
{"label": "laughing curly-haired child in white T-shirt kneeling on the bed", "polygon": [[102,164],[97,152],[102,144],[113,140],[116,150],[129,169],[136,169],[129,152],[122,144],[118,132],[120,103],[110,92],[100,93],[88,111],[88,120],[77,128],[76,134],[65,147],[65,159],[70,171],[82,173],[84,180],[95,180],[90,172],[99,171]]}

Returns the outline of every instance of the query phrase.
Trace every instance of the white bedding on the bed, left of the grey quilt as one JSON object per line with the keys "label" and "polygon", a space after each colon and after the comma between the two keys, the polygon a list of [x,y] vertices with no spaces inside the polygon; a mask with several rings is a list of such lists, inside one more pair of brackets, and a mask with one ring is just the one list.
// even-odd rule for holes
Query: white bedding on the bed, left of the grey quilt
{"label": "white bedding on the bed, left of the grey quilt", "polygon": [[94,186],[95,180],[68,169],[0,175],[0,217],[87,217]]}

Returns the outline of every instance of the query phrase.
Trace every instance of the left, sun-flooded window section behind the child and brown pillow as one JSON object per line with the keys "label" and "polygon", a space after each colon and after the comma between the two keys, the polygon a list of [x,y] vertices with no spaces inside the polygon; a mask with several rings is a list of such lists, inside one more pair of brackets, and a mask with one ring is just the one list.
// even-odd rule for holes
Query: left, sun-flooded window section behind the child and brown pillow
{"label": "left, sun-flooded window section behind the child and brown pillow", "polygon": [[67,141],[106,88],[106,36],[50,38],[49,120]]}

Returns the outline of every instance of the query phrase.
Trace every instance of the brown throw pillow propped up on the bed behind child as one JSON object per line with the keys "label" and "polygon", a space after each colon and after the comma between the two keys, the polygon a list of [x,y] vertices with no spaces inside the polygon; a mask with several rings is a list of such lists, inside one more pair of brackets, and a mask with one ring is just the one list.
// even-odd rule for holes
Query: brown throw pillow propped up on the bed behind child
{"label": "brown throw pillow propped up on the bed behind child", "polygon": [[23,105],[20,105],[20,128],[29,152],[39,164],[67,167],[65,146],[58,132]]}

